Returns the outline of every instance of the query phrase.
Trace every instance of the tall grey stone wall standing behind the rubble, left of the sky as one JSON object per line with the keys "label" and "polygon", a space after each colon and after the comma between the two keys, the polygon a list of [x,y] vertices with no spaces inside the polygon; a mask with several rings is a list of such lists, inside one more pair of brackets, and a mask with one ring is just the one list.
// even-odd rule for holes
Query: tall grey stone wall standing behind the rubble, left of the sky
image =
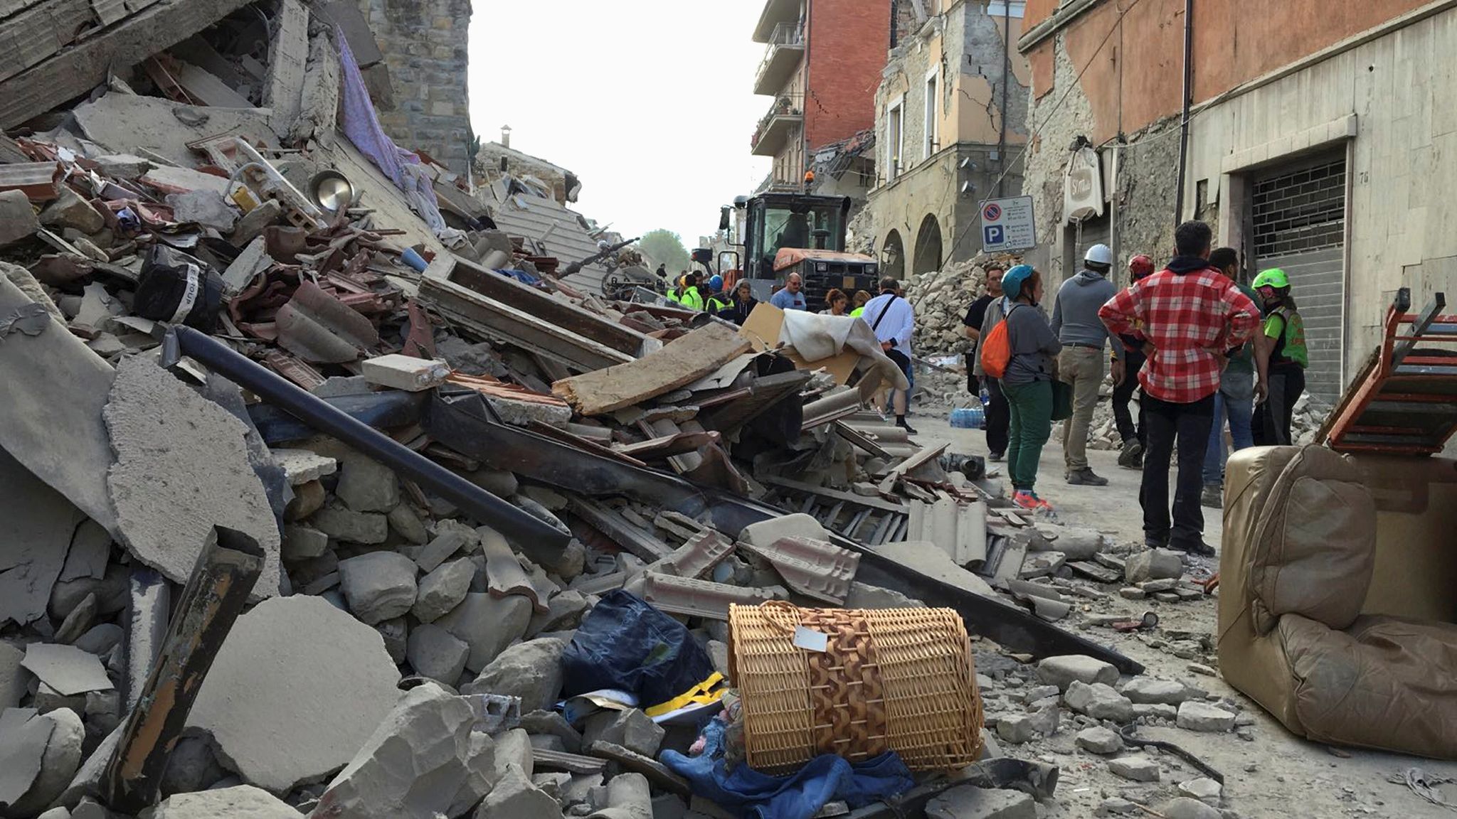
{"label": "tall grey stone wall standing behind the rubble, left of the sky", "polygon": [[405,150],[466,172],[471,96],[466,36],[471,0],[358,0],[385,52],[392,99],[376,98],[380,124]]}

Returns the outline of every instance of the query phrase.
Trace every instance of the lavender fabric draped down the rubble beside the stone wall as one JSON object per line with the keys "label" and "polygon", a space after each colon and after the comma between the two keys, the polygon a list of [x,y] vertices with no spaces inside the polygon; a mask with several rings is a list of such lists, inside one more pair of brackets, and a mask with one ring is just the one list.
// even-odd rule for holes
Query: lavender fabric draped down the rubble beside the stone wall
{"label": "lavender fabric draped down the rubble beside the stone wall", "polygon": [[370,101],[369,89],[364,86],[364,74],[354,61],[354,52],[350,51],[342,29],[335,28],[335,32],[339,44],[339,67],[344,70],[344,117],[339,121],[344,136],[405,192],[409,207],[425,220],[441,242],[452,248],[460,245],[465,242],[465,235],[446,226],[444,217],[440,216],[440,200],[436,198],[433,182],[420,165],[420,157],[401,149],[385,134],[374,102]]}

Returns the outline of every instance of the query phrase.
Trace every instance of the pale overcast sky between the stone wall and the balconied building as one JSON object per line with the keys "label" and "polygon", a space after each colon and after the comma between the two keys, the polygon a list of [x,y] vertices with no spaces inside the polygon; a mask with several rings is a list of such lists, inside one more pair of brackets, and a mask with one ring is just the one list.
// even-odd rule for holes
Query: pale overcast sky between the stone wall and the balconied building
{"label": "pale overcast sky between the stone wall and the balconied building", "polygon": [[692,249],[769,160],[749,134],[762,0],[475,0],[471,121],[484,141],[581,179],[576,210],[627,238],[666,227]]}

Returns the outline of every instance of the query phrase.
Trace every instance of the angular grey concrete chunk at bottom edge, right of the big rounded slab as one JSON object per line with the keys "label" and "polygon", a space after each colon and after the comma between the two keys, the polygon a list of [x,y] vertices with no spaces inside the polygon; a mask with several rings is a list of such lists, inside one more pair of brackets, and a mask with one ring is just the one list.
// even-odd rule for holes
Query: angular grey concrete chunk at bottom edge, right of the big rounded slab
{"label": "angular grey concrete chunk at bottom edge, right of the big rounded slab", "polygon": [[319,797],[315,816],[434,819],[466,784],[471,726],[465,700],[418,685],[380,721],[358,755]]}

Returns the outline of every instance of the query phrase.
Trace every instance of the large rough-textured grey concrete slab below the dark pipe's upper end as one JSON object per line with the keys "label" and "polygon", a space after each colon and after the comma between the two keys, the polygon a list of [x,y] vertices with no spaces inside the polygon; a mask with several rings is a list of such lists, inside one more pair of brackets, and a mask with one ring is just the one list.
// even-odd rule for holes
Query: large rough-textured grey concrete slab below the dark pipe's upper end
{"label": "large rough-textured grey concrete slab below the dark pipe's upper end", "polygon": [[186,583],[213,526],[237,529],[264,549],[252,597],[277,595],[281,538],[248,459],[248,427],[143,356],[121,360],[102,417],[117,453],[106,487],[127,551]]}

